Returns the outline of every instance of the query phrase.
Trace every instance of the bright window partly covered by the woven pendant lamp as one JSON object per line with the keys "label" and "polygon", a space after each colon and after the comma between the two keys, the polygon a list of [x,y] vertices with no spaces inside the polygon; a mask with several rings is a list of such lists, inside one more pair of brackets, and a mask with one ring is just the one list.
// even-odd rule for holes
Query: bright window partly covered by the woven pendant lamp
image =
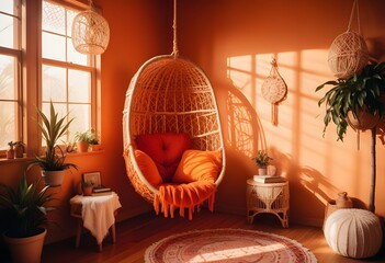
{"label": "bright window partly covered by the woven pendant lamp", "polygon": [[73,118],[65,141],[95,127],[95,56],[76,52],[71,43],[79,12],[54,1],[42,3],[42,108],[49,114],[52,101],[67,122]]}

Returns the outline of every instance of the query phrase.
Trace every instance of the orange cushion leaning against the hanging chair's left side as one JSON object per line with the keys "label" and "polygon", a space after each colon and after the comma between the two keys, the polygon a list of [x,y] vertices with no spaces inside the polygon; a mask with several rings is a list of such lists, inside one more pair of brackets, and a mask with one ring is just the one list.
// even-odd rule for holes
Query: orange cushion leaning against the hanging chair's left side
{"label": "orange cushion leaning against the hanging chair's left side", "polygon": [[140,171],[147,179],[147,181],[154,186],[159,187],[159,185],[163,182],[160,176],[157,167],[155,165],[152,159],[147,156],[141,150],[135,150],[136,161],[139,165]]}

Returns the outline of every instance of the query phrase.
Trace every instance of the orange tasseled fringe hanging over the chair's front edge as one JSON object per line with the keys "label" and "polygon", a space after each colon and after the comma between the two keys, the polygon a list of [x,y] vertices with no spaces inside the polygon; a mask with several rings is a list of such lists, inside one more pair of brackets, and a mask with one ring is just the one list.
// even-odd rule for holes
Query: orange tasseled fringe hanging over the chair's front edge
{"label": "orange tasseled fringe hanging over the chair's front edge", "polygon": [[[183,198],[183,196],[181,196]],[[175,201],[175,199],[174,199]],[[199,213],[201,210],[201,205],[207,201],[208,202],[208,209],[211,211],[214,211],[214,203],[215,203],[215,191],[212,193],[212,195],[206,198],[206,199],[203,199],[202,202],[200,202],[199,204],[192,204],[190,206],[178,206],[175,204],[170,204],[169,202],[166,201],[165,196],[160,196],[159,194],[156,194],[155,195],[155,198],[154,198],[154,210],[157,215],[159,215],[159,208],[160,208],[160,211],[163,214],[163,216],[166,218],[169,217],[169,214],[171,216],[171,218],[174,217],[174,210],[177,208],[179,208],[179,215],[181,217],[184,217],[184,208],[188,208],[189,209],[189,220],[192,220],[192,217],[193,217],[193,214],[195,211],[195,208],[196,208],[196,211]]]}

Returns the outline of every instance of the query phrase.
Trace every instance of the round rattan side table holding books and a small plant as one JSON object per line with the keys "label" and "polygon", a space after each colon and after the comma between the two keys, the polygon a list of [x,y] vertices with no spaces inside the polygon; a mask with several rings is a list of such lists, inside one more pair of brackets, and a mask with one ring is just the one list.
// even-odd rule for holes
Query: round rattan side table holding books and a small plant
{"label": "round rattan side table holding books and a small plant", "polygon": [[288,227],[288,182],[284,183],[257,183],[247,180],[247,219],[252,224],[260,213],[274,214],[281,221],[282,227]]}

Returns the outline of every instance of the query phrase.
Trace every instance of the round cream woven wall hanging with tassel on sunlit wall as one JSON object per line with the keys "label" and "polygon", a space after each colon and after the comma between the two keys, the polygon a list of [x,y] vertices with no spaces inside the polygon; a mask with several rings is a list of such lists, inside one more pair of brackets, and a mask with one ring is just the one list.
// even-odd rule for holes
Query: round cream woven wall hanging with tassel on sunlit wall
{"label": "round cream woven wall hanging with tassel on sunlit wall", "polygon": [[286,99],[286,94],[287,85],[278,71],[276,60],[273,58],[269,77],[262,84],[262,96],[271,103],[271,123],[273,125],[278,125],[278,106]]}

